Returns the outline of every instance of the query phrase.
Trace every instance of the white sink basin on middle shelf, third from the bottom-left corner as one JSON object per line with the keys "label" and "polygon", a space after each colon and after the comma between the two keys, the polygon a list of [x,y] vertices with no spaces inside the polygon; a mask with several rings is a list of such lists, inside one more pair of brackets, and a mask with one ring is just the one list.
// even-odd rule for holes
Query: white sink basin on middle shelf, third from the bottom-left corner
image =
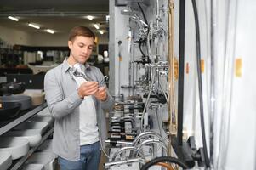
{"label": "white sink basin on middle shelf, third from the bottom-left corner", "polygon": [[48,122],[22,122],[14,130],[37,129],[42,135],[48,128]]}

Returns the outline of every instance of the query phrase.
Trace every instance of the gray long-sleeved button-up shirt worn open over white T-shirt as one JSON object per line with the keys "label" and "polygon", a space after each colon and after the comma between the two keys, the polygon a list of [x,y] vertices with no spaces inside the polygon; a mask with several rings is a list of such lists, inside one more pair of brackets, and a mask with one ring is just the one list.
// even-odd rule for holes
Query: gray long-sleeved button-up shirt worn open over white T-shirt
{"label": "gray long-sleeved button-up shirt worn open over white T-shirt", "polygon": [[[105,80],[100,70],[88,64],[86,74],[100,86]],[[53,150],[58,156],[70,161],[80,159],[79,105],[82,99],[77,93],[77,82],[71,75],[70,66],[65,59],[61,65],[48,71],[44,78],[44,91],[48,108],[54,117]],[[109,92],[105,101],[94,98],[100,137],[106,139],[105,114],[102,110],[111,110],[114,101]],[[86,114],[86,111],[84,111]]]}

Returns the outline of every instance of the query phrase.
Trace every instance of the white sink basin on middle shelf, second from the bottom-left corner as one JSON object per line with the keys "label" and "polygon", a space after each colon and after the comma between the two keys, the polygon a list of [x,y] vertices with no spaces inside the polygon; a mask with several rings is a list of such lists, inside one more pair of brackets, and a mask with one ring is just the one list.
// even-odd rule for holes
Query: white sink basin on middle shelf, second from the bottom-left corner
{"label": "white sink basin on middle shelf, second from the bottom-left corner", "polygon": [[4,133],[3,136],[21,137],[27,139],[31,147],[36,146],[42,139],[40,130],[38,129],[9,131],[8,133]]}

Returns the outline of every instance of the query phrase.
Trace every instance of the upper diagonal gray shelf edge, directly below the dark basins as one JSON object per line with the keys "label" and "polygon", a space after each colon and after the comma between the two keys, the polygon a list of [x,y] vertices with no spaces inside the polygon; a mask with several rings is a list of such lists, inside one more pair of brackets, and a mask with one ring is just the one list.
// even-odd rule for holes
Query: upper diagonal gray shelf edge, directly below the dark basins
{"label": "upper diagonal gray shelf edge, directly below the dark basins", "polygon": [[19,118],[15,119],[13,122],[9,122],[8,124],[6,124],[5,126],[0,128],[0,135],[8,132],[10,129],[12,129],[13,127],[20,124],[20,122],[26,121],[26,119],[37,114],[37,112],[42,111],[46,107],[47,107],[47,104],[43,103],[42,105],[37,106],[35,109],[28,111],[25,115],[20,116]]}

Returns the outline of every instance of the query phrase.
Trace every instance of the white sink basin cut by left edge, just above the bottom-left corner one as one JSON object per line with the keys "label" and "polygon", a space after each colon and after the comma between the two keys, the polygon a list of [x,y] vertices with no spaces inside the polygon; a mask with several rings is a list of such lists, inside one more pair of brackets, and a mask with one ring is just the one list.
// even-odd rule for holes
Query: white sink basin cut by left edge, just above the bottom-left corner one
{"label": "white sink basin cut by left edge, just above the bottom-left corner one", "polygon": [[27,139],[20,137],[0,137],[0,155],[2,152],[9,152],[12,160],[25,156],[29,150]]}

